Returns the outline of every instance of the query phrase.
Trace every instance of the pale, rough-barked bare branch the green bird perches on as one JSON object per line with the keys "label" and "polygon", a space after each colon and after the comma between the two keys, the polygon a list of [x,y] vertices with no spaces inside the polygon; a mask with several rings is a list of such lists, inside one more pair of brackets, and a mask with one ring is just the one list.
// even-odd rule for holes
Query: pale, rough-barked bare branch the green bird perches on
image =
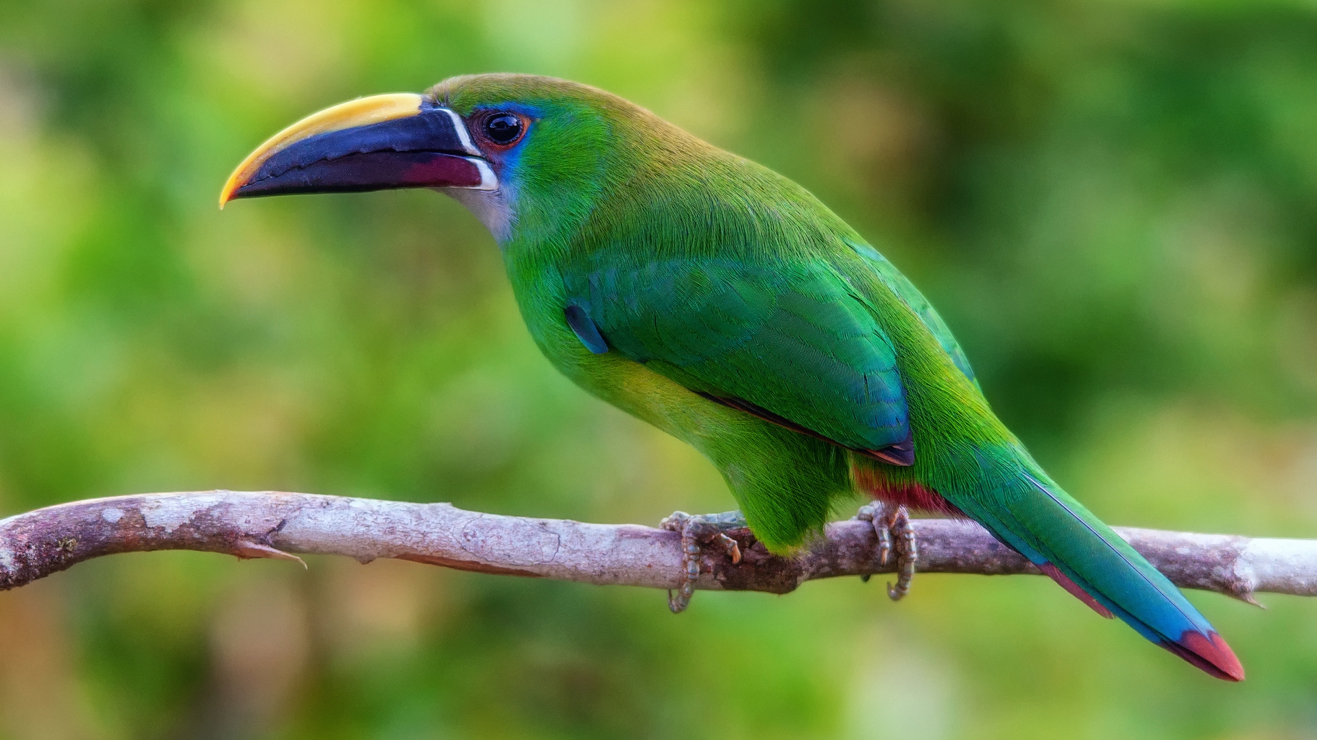
{"label": "pale, rough-barked bare branch the green bird perches on", "polygon": [[[1038,574],[972,521],[918,519],[921,573]],[[1177,586],[1252,600],[1255,591],[1317,595],[1317,540],[1117,528]],[[785,594],[815,578],[889,573],[869,521],[828,524],[799,556],[769,554],[748,529],[734,565],[701,554],[697,589]],[[194,491],[88,499],[0,521],[0,590],[25,586],[94,557],[203,550],[241,558],[292,553],[381,557],[460,570],[676,589],[681,537],[633,524],[586,524],[403,503],[290,492]]]}

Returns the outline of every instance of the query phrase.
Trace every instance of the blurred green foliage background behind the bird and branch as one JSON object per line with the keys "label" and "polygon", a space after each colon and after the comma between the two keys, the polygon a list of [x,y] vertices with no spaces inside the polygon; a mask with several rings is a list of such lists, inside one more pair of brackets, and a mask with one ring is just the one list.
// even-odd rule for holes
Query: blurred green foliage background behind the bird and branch
{"label": "blurred green foliage background behind the bird and branch", "polygon": [[[358,95],[593,83],[799,180],[1113,524],[1317,536],[1317,8],[1266,0],[0,0],[0,512],[284,489],[731,507],[544,361],[424,191],[241,201]],[[0,736],[1317,736],[1317,603],[1192,594],[1213,681],[1038,578],[664,594],[150,553],[0,594]]]}

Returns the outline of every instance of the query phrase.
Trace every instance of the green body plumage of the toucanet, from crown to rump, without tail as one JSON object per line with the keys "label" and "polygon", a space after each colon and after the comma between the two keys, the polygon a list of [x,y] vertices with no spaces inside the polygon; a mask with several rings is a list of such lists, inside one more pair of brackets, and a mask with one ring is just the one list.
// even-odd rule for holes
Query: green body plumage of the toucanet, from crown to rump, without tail
{"label": "green body plumage of the toucanet, from crown to rump, without tail", "polygon": [[[794,182],[583,86],[479,76],[432,93],[464,115],[502,103],[536,119],[540,141],[507,163],[515,223],[500,240],[532,336],[586,390],[705,453],[769,548],[819,529],[852,467],[892,469],[840,448],[913,435],[900,478],[940,492],[955,489],[940,478],[948,437],[1014,442],[931,305]],[[582,344],[569,304],[612,352]]]}

